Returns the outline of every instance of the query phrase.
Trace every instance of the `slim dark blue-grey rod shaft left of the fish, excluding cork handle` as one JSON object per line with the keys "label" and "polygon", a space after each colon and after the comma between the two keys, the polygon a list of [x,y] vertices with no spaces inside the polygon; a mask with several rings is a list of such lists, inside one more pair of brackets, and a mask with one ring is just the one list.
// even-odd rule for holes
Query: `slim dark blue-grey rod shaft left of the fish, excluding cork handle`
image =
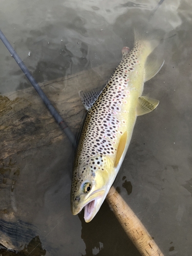
{"label": "slim dark blue-grey rod shaft left of the fish, excluding cork handle", "polygon": [[15,52],[13,47],[11,46],[10,42],[7,40],[6,36],[3,34],[3,32],[0,29],[0,38],[3,41],[4,45],[8,49],[8,51],[11,53],[11,56],[15,59],[20,69],[24,72],[24,74],[27,76],[28,80],[31,82],[32,86],[38,93],[38,95],[41,97],[42,101],[46,104],[47,108],[49,109],[52,116],[55,118],[57,123],[59,124],[62,131],[67,135],[73,146],[76,144],[75,136],[69,129],[67,123],[62,119],[62,117],[59,115],[59,113],[56,111],[54,106],[51,104],[51,101],[48,99],[44,91],[40,88],[37,81],[34,79],[34,77],[31,75],[28,68],[25,66],[23,60],[18,56],[18,54]]}

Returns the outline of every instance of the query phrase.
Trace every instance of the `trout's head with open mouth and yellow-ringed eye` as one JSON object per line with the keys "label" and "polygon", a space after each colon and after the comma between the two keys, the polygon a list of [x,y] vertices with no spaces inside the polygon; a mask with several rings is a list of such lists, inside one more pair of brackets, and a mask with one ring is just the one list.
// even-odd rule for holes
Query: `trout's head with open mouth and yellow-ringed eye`
{"label": "trout's head with open mouth and yellow-ringed eye", "polygon": [[101,207],[114,181],[112,160],[95,156],[74,168],[71,186],[71,211],[77,215],[84,207],[84,220],[90,222]]}

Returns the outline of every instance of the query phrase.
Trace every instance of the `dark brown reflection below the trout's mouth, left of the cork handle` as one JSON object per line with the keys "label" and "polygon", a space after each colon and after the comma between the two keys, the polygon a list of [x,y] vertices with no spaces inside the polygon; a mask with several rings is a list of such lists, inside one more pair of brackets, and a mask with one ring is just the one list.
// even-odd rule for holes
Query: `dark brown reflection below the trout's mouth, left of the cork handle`
{"label": "dark brown reflection below the trout's mouth, left of the cork handle", "polygon": [[127,251],[130,255],[140,255],[105,201],[101,212],[91,222],[86,223],[83,216],[82,211],[78,217],[82,225],[81,238],[86,244],[86,253],[83,255],[104,256],[110,252],[110,255],[116,256],[119,252],[126,255]]}

